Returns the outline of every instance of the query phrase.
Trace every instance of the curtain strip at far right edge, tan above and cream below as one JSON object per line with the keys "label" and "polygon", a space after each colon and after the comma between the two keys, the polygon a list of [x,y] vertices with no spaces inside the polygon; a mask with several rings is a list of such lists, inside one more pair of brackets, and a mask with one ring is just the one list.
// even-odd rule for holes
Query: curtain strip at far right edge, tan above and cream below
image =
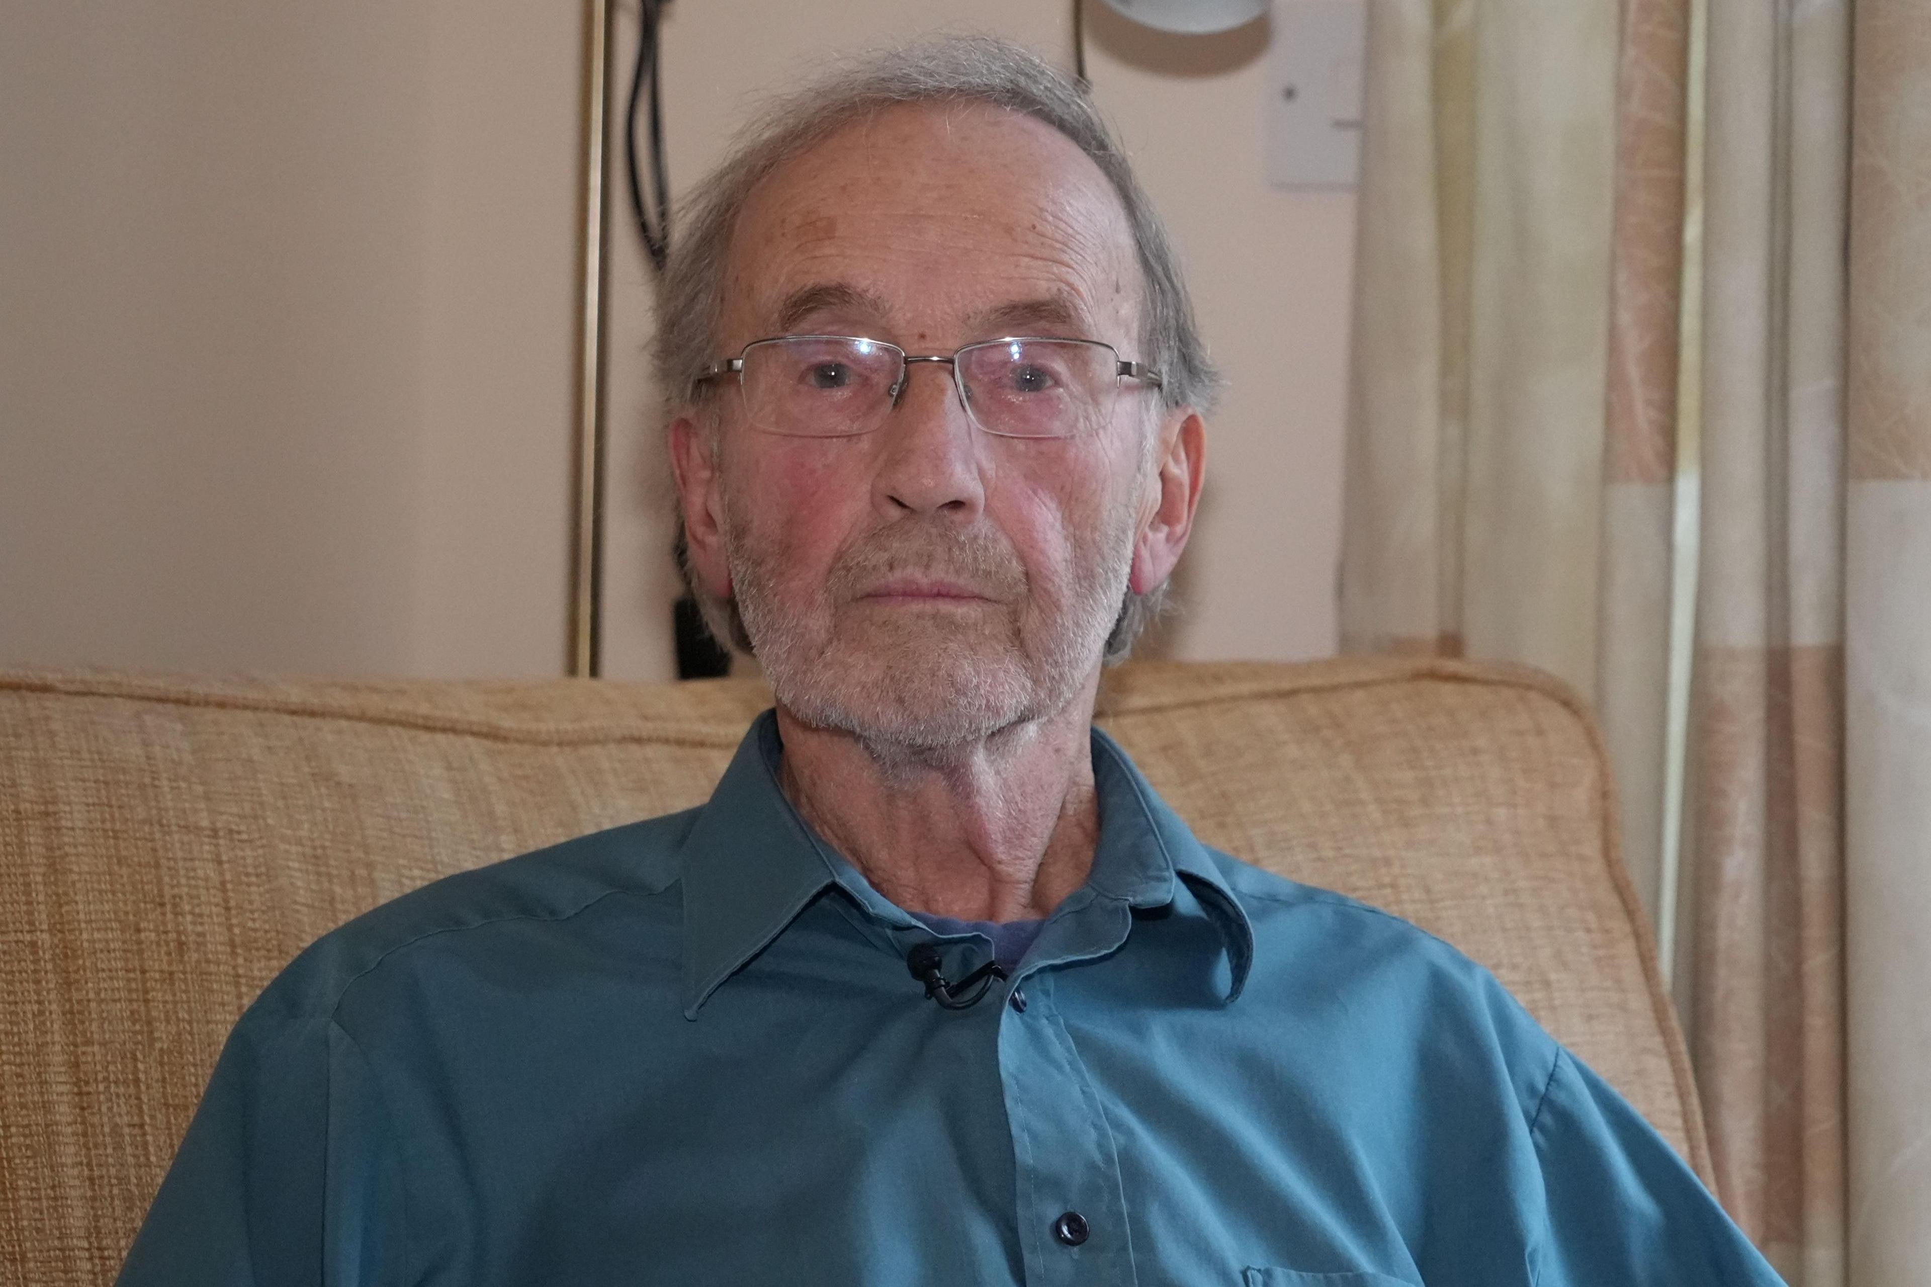
{"label": "curtain strip at far right edge, tan above and cream below", "polygon": [[1844,528],[1850,1281],[1931,1277],[1931,2],[1858,0]]}

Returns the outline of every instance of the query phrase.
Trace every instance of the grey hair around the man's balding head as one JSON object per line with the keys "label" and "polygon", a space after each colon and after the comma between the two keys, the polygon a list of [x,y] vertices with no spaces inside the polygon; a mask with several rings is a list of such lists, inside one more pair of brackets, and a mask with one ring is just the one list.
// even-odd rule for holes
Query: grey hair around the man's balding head
{"label": "grey hair around the man's balding head", "polygon": [[[1145,286],[1143,361],[1159,367],[1166,408],[1211,410],[1220,375],[1207,359],[1193,303],[1180,276],[1180,259],[1093,99],[1027,48],[993,37],[948,37],[846,64],[813,85],[772,100],[738,135],[724,164],[684,201],[676,220],[680,240],[658,290],[662,321],[653,344],[658,388],[672,414],[705,396],[705,367],[718,358],[716,332],[724,313],[730,242],[738,214],[757,186],[844,126],[921,102],[987,102],[1031,116],[1072,139],[1099,166],[1120,197],[1139,259]],[[691,576],[682,516],[678,562],[711,634],[749,653],[751,640],[736,603],[705,593]],[[1132,589],[1126,593],[1120,616],[1106,636],[1108,665],[1126,659],[1139,632],[1162,611],[1164,599],[1164,584],[1145,595]]]}

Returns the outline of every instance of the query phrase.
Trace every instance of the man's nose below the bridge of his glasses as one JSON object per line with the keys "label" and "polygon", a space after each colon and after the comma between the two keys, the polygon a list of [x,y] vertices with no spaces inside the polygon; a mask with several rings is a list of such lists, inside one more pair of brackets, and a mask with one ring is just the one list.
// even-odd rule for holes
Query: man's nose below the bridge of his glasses
{"label": "man's nose below the bridge of his glasses", "polygon": [[873,499],[888,518],[977,518],[985,504],[979,433],[960,404],[950,363],[906,365],[906,386],[877,431]]}

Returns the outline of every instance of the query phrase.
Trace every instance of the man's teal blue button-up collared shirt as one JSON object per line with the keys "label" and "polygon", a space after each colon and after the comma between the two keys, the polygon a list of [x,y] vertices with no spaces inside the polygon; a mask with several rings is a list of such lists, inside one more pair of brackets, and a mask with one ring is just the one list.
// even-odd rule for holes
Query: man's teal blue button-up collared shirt
{"label": "man's teal blue button-up collared shirt", "polygon": [[1012,980],[790,808],[456,875],[236,1024],[127,1287],[1775,1283],[1479,966],[1199,844],[1093,734],[1099,850]]}

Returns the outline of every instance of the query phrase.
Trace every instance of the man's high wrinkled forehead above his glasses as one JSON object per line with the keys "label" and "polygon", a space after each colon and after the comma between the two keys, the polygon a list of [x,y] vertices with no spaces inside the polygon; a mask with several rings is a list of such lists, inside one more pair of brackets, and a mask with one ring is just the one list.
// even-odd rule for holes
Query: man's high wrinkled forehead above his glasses
{"label": "man's high wrinkled forehead above his glasses", "polygon": [[985,102],[886,108],[790,157],[745,201],[724,282],[726,352],[799,329],[1139,346],[1139,261],[1112,184],[1058,129]]}

